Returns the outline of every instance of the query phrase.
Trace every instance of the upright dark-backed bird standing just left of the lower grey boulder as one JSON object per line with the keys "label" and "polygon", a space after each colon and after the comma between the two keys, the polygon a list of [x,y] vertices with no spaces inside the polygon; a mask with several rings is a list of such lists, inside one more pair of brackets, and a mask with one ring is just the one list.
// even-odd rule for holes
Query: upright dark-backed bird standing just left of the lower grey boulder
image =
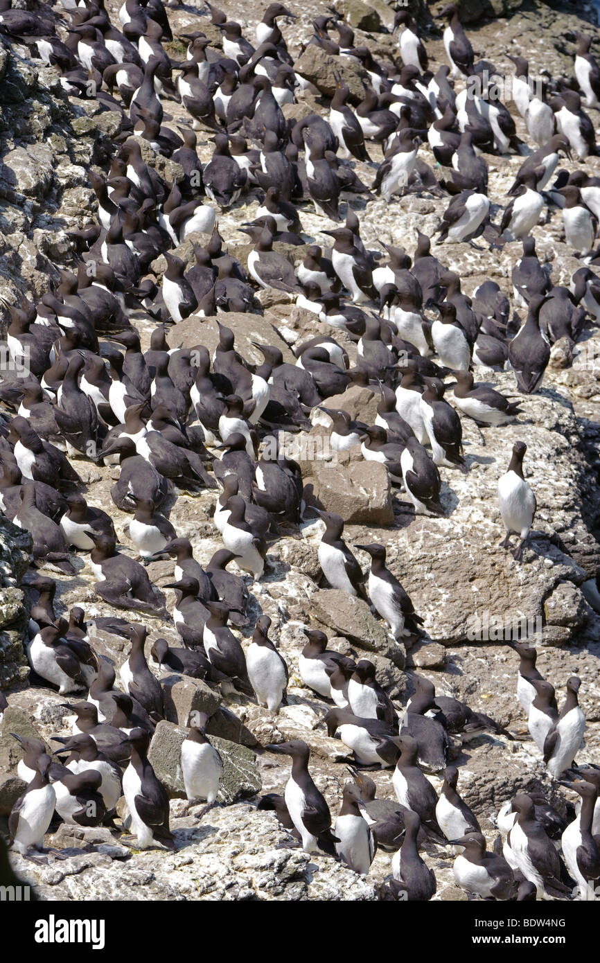
{"label": "upright dark-backed bird standing just left of the lower grey boulder", "polygon": [[137,848],[147,849],[157,840],[174,849],[169,828],[169,796],[148,762],[150,735],[143,729],[129,733],[131,760],[123,774],[123,795],[137,836]]}

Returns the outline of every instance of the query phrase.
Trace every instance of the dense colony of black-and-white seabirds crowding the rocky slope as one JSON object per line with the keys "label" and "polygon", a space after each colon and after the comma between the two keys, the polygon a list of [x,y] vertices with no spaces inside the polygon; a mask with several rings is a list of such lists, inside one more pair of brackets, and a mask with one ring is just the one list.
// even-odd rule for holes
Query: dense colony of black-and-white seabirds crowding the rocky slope
{"label": "dense colony of black-and-white seabirds crowding the rocky slope", "polygon": [[[235,842],[230,809],[281,859],[345,873],[333,898],[363,877],[360,898],[592,900],[586,685],[563,672],[555,691],[559,650],[521,633],[488,665],[509,723],[476,676],[444,694],[401,558],[429,553],[410,585],[443,608],[433,558],[472,509],[499,578],[539,560],[544,375],[600,318],[591,38],[567,33],[558,78],[516,45],[481,59],[453,4],[390,7],[359,36],[329,8],[185,11],[1,4],[9,57],[118,120],[47,290],[2,301],[0,508],[5,538],[30,536],[5,581],[27,607],[0,691],[8,872],[194,854],[213,822]],[[562,284],[536,251],[550,223]],[[546,458],[546,485],[560,472]],[[378,513],[360,502],[376,482]],[[488,750],[492,776],[527,758],[538,778],[508,776],[493,813],[465,793]]]}

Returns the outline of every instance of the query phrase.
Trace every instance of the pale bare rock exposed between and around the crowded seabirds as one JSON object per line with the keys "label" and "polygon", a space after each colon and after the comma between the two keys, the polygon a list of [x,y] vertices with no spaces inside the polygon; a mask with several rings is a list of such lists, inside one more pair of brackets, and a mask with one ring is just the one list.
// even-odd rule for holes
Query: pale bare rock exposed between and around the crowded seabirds
{"label": "pale bare rock exposed between and around the crowded seabirds", "polygon": [[[108,0],[106,9],[115,15],[118,6],[115,0]],[[262,13],[262,8],[248,8],[235,0],[227,0],[223,6],[228,15],[239,20],[245,33],[253,31]],[[311,21],[322,13],[322,5],[316,0],[302,5],[292,0],[290,7],[299,19],[286,25],[284,33],[298,57],[300,44],[306,44],[310,38]],[[340,0],[339,9],[356,27],[357,43],[369,44],[374,55],[383,60],[394,55],[396,41],[391,35],[369,33],[377,26],[377,17],[391,27],[391,7],[378,2],[372,8],[359,0]],[[431,68],[435,70],[445,63],[445,56],[431,12],[419,0],[410,0],[408,9],[425,31]],[[504,16],[510,12],[513,15]],[[213,42],[221,43],[221,33],[212,27],[205,13],[199,0],[185,7],[169,8],[174,33],[202,29]],[[492,14],[502,18],[489,19]],[[510,68],[505,51],[525,51],[536,73],[547,67],[555,76],[567,76],[572,69],[572,49],[564,43],[565,31],[575,25],[591,33],[596,41],[600,37],[590,23],[589,10],[580,12],[566,3],[550,5],[524,0],[519,4],[511,0],[508,5],[503,0],[485,0],[483,4],[463,0],[461,15],[469,24],[469,36],[479,55],[497,61],[503,70]],[[185,45],[175,41],[171,53],[178,58],[184,56],[184,50]],[[294,105],[294,111],[298,116],[315,111],[326,116],[328,107],[322,94],[331,95],[336,84],[331,63],[317,47],[308,45],[297,66],[319,92],[307,91]],[[363,81],[368,79],[366,73],[349,62],[343,79],[351,86],[352,101],[357,102],[364,91]],[[176,122],[180,108],[174,102],[171,106]],[[513,105],[509,106],[517,133],[523,136],[523,123],[516,117]],[[289,113],[292,116],[293,112]],[[590,110],[590,116],[597,127],[600,115]],[[95,215],[96,200],[88,172],[98,166],[106,168],[112,139],[120,133],[119,117],[118,112],[100,112],[92,101],[67,96],[59,71],[34,62],[22,44],[11,41],[0,46],[3,299],[13,303],[19,293],[39,299],[48,290],[49,279],[56,282],[59,271],[72,266],[72,232],[84,227]],[[369,150],[379,162],[379,148],[370,144]],[[203,163],[211,152],[212,144],[202,138],[198,154]],[[434,166],[427,143],[420,147],[420,156]],[[144,159],[170,180],[181,176],[176,165],[151,148]],[[507,191],[523,158],[516,154],[486,155],[485,160],[490,171],[492,216],[499,222]],[[567,170],[577,166],[561,161],[561,167]],[[373,169],[368,165],[356,163],[354,169],[368,184],[372,183]],[[585,169],[592,176],[600,175],[600,158],[587,158]],[[379,249],[380,242],[403,245],[412,255],[417,228],[432,234],[447,199],[424,193],[396,198],[391,204],[382,198],[368,203],[358,199],[353,206],[367,247]],[[248,253],[248,238],[239,228],[254,217],[257,207],[257,195],[250,194],[220,215],[220,229],[230,252]],[[345,213],[342,204],[342,214]],[[302,208],[301,220],[307,241],[327,249],[330,239],[323,230],[332,224],[316,215],[312,205]],[[564,244],[561,212],[553,208],[533,233],[540,260],[552,268],[553,282],[568,285],[580,262]],[[179,256],[191,261],[192,244],[180,247]],[[483,247],[464,244],[435,244],[432,249],[450,270],[460,274],[467,295],[471,296],[484,279],[491,278],[511,297],[510,270],[521,255],[518,243],[507,244],[493,256]],[[294,261],[302,249],[296,256],[294,251],[287,253]],[[154,263],[152,269],[160,281],[165,264]],[[262,314],[226,316],[226,324],[235,332],[236,345],[251,362],[259,364],[262,360],[252,342],[276,344],[284,360],[295,363],[291,346],[331,333],[339,335],[352,363],[355,361],[356,348],[350,339],[345,339],[341,332],[332,332],[308,312],[300,313],[287,296],[261,294],[256,302]],[[6,325],[4,308],[2,313]],[[132,320],[140,328],[146,349],[154,323],[147,318]],[[212,354],[219,337],[216,320],[193,317],[174,325],[169,332],[170,346],[194,348],[201,343]],[[389,854],[379,851],[369,876],[362,878],[321,853],[308,855],[300,849],[279,848],[289,842],[288,835],[272,813],[256,810],[258,795],[281,794],[290,773],[289,760],[261,751],[270,742],[301,739],[310,744],[311,773],[326,795],[333,817],[339,812],[348,778],[346,763],[341,762],[347,755],[346,747],[327,737],[323,722],[331,703],[308,690],[300,679],[298,664],[305,643],[304,625],[322,627],[330,648],[373,661],[379,684],[399,711],[402,712],[414,688],[411,676],[416,669],[433,682],[438,694],[467,701],[474,711],[492,716],[516,737],[482,734],[456,746],[459,790],[481,821],[489,848],[498,838],[495,814],[512,794],[541,789],[557,806],[564,805],[561,787],[548,775],[527,736],[526,719],[515,695],[517,658],[506,642],[512,627],[525,620],[539,651],[538,667],[560,697],[571,675],[582,679],[581,703],[587,715],[587,732],[577,758],[580,764],[597,763],[600,609],[594,608],[589,584],[600,567],[599,352],[597,328],[587,326],[576,346],[554,346],[543,387],[534,396],[521,399],[523,413],[514,424],[480,430],[463,419],[469,470],[463,475],[442,469],[445,517],[415,515],[403,493],[397,488],[390,490],[389,484],[385,484],[378,466],[370,467],[365,477],[365,463],[354,455],[340,458],[335,468],[311,459],[311,448],[306,442],[314,441],[318,426],[316,430],[300,432],[303,481],[312,484],[321,504],[343,514],[349,545],[369,541],[385,545],[390,569],[401,579],[415,610],[424,618],[425,638],[406,651],[404,644],[391,638],[384,623],[365,602],[317,584],[322,522],[307,519],[298,531],[282,532],[270,541],[264,578],[252,584],[246,577],[250,619],[248,627],[236,629],[235,634],[248,647],[256,617],[261,612],[270,615],[271,636],[290,669],[288,704],[274,715],[226,687],[209,688],[189,679],[167,685],[167,721],[159,724],[152,758],[173,796],[171,828],[176,851],[132,851],[119,842],[119,832],[53,825],[46,842],[64,848],[67,858],[57,861],[50,855],[46,864],[39,866],[14,856],[15,872],[31,881],[39,897],[47,900],[378,899],[378,884],[391,872]],[[482,370],[481,379],[506,394],[514,392],[514,378],[509,372]],[[452,403],[451,391],[447,397]],[[368,424],[375,420],[377,403],[376,393],[356,385],[343,396],[327,400],[328,406],[344,407],[352,418]],[[519,439],[528,444],[525,472],[537,499],[535,531],[521,565],[500,548],[504,528],[496,495],[498,478],[509,463],[512,445]],[[114,467],[96,465],[83,458],[76,458],[73,463],[86,482],[87,500],[110,512],[119,548],[134,557],[136,552],[126,533],[130,516],[115,508],[110,498],[116,477]],[[222,547],[212,522],[215,501],[214,491],[198,495],[173,492],[166,505],[178,534],[190,538],[201,564]],[[22,641],[30,593],[21,580],[29,548],[28,537],[0,519],[0,686],[9,702],[0,726],[2,830],[6,830],[6,816],[23,788],[15,775],[20,756],[10,733],[38,736],[51,746],[54,736],[70,732],[65,697],[41,686],[39,680],[28,685]],[[358,550],[356,554],[364,569],[366,557]],[[64,614],[73,605],[81,605],[90,620],[114,614],[93,591],[96,579],[89,555],[80,553],[72,558],[76,571],[71,576],[55,569],[42,570],[42,574],[57,579],[57,613]],[[159,587],[172,581],[172,562],[153,562],[147,571]],[[172,591],[165,589],[165,595],[172,611]],[[170,645],[178,644],[172,620],[148,617],[144,623],[149,629],[146,656],[156,638],[167,638]],[[98,654],[114,664],[118,676],[127,654],[124,641],[102,633],[92,633],[91,641]],[[163,673],[161,680],[168,679],[169,673]],[[199,821],[196,811],[185,818],[180,816],[183,802],[177,758],[185,734],[183,727],[194,711],[210,716],[207,734],[230,767],[222,805]],[[393,799],[391,770],[372,775],[378,795]],[[441,781],[435,776],[428,778],[439,790]],[[424,858],[437,876],[435,898],[463,899],[454,882],[448,850],[427,845]]]}

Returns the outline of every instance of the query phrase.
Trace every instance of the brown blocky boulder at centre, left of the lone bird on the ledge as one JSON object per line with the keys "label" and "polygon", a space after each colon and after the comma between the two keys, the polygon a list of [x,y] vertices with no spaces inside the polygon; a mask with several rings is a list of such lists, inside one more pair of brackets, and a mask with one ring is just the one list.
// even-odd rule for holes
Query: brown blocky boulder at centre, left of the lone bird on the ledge
{"label": "brown blocky boulder at centre, left of the lone bird on the ledge", "polygon": [[[334,453],[335,454],[335,453]],[[345,522],[392,525],[392,493],[385,465],[378,461],[357,461],[348,466],[314,461],[304,477],[312,485],[309,505],[333,511]]]}

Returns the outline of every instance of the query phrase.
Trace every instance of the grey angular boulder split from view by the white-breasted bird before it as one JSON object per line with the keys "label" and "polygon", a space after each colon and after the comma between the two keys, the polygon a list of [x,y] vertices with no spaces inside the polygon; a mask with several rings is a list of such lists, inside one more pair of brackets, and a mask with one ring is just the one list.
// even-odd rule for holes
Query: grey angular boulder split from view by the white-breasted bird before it
{"label": "grey angular boulder split from view by the white-breasted bird before it", "polygon": [[[181,743],[187,735],[188,730],[182,726],[163,721],[158,723],[150,742],[148,760],[171,799],[185,799]],[[219,801],[230,804],[258,793],[262,784],[251,749],[219,736],[211,736],[210,741],[221,753],[223,762]]]}

